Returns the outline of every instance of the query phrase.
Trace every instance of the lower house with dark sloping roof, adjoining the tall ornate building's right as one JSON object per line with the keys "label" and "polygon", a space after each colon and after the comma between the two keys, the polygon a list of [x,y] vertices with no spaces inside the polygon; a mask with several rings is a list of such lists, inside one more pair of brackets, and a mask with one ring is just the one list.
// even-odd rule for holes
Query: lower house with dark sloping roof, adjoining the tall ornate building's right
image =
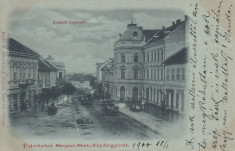
{"label": "lower house with dark sloping roof, adjoining the tall ornate building's right", "polygon": [[183,112],[185,109],[187,48],[183,48],[162,62],[165,67],[165,107]]}

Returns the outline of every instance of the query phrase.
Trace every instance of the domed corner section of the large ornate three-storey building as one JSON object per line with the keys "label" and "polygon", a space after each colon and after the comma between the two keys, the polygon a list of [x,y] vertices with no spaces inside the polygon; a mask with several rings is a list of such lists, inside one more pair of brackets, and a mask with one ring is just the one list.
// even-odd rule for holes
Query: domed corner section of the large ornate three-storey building
{"label": "domed corner section of the large ornate three-storey building", "polygon": [[143,30],[137,24],[127,30],[114,44],[115,99],[142,100],[144,95],[144,44],[158,30]]}

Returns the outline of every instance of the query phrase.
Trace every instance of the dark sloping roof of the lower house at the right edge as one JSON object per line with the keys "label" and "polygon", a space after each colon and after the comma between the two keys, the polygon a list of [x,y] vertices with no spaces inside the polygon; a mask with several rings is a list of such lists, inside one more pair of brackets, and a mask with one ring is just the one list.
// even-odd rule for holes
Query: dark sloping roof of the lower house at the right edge
{"label": "dark sloping roof of the lower house at the right edge", "polygon": [[162,62],[164,65],[185,64],[188,61],[188,48],[183,48]]}

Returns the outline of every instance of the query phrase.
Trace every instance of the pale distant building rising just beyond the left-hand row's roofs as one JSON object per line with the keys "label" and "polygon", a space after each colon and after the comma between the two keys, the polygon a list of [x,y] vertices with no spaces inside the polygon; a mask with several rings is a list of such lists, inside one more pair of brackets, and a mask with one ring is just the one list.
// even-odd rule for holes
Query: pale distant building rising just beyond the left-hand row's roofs
{"label": "pale distant building rising just beyond the left-hand row's roofs", "polygon": [[64,65],[64,63],[55,61],[55,58],[52,58],[50,55],[46,59],[58,69],[57,70],[57,80],[64,80],[64,78],[65,78],[65,65]]}

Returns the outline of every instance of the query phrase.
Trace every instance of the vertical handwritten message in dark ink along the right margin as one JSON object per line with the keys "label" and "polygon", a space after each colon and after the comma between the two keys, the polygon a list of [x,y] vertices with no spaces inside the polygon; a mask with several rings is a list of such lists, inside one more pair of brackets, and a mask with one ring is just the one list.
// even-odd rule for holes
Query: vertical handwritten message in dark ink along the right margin
{"label": "vertical handwritten message in dark ink along the right margin", "polygon": [[232,4],[215,0],[210,8],[191,4],[189,116],[190,150],[229,150],[234,136],[228,129],[232,92],[229,90],[232,55]]}

